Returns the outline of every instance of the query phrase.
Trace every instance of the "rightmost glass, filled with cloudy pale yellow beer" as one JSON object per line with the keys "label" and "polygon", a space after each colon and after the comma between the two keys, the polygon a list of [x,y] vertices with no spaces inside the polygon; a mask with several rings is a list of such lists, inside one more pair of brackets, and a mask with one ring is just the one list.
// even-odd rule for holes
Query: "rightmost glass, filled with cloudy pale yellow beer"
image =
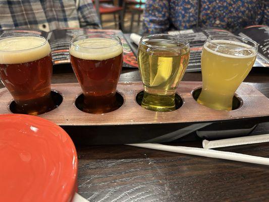
{"label": "rightmost glass, filled with cloudy pale yellow beer", "polygon": [[236,36],[210,36],[203,45],[202,91],[197,102],[216,110],[232,110],[235,91],[250,72],[257,43]]}

